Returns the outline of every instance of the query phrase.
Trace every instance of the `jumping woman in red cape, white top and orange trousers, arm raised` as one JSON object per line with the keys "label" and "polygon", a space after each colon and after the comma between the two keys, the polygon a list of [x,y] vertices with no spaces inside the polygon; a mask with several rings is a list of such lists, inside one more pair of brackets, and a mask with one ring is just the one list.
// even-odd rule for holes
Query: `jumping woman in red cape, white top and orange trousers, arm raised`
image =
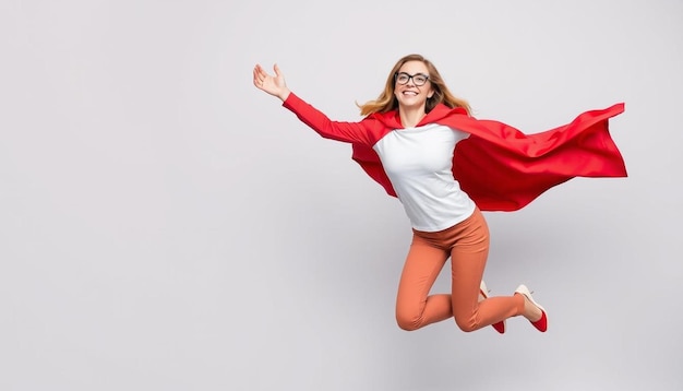
{"label": "jumping woman in red cape, white top and orange trousers, arm raised", "polygon": [[[481,210],[519,209],[574,176],[625,176],[607,131],[608,118],[623,105],[526,135],[472,118],[468,104],[453,96],[436,68],[420,55],[409,55],[394,66],[378,99],[360,106],[366,116],[361,121],[338,122],[291,93],[277,64],[274,71],[271,75],[256,64],[254,85],[280,98],[322,137],[351,143],[354,159],[398,198],[410,220],[412,242],[396,299],[402,329],[453,317],[466,332],[493,325],[503,333],[507,318],[523,316],[539,331],[547,330],[546,310],[525,285],[512,296],[486,297],[481,279],[489,230]],[[430,295],[448,258],[451,294]]]}

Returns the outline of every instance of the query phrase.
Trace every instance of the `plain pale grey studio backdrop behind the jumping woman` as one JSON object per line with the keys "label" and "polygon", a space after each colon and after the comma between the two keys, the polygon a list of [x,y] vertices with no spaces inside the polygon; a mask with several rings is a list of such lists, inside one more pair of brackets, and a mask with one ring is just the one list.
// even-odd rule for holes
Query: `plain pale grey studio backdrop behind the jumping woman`
{"label": "plain pale grey studio backdrop behind the jumping woman", "polygon": [[[3,0],[0,389],[683,389],[682,43],[679,0]],[[626,104],[628,178],[487,213],[546,334],[398,329],[400,204],[251,80],[359,120],[411,52],[527,133]]]}

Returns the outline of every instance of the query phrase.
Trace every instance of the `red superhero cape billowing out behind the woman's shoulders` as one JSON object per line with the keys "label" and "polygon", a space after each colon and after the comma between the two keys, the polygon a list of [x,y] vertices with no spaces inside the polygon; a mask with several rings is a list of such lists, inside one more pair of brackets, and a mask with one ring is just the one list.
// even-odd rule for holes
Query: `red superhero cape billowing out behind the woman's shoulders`
{"label": "red superhero cape billowing out behind the woman's shoulders", "polygon": [[[574,177],[625,177],[624,159],[609,132],[609,118],[624,104],[586,111],[572,122],[540,133],[469,117],[439,105],[418,125],[440,123],[470,137],[456,144],[453,174],[482,211],[515,211]],[[387,129],[403,129],[397,111],[372,114]],[[352,144],[352,158],[390,196],[396,197],[371,146]]]}

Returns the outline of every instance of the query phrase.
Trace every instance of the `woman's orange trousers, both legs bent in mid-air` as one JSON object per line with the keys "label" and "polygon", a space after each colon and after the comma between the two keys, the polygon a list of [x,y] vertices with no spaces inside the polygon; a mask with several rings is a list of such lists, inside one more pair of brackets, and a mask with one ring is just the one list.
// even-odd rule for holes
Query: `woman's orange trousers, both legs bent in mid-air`
{"label": "woman's orange trousers, both legs bent in mid-air", "polygon": [[[479,284],[489,254],[489,227],[479,209],[462,223],[436,233],[414,229],[412,244],[398,284],[396,321],[417,330],[451,317],[463,331],[474,331],[522,315],[520,295],[479,301]],[[451,257],[451,294],[429,295]]]}

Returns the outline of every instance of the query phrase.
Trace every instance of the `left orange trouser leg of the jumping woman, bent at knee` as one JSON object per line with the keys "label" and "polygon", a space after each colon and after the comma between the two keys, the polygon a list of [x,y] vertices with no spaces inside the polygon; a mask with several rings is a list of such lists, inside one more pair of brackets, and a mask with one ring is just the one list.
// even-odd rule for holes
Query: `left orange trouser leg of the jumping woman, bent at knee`
{"label": "left orange trouser leg of the jumping woman, bent at knee", "polygon": [[404,330],[417,330],[453,316],[451,295],[429,295],[448,252],[412,236],[410,250],[398,283],[396,322]]}

